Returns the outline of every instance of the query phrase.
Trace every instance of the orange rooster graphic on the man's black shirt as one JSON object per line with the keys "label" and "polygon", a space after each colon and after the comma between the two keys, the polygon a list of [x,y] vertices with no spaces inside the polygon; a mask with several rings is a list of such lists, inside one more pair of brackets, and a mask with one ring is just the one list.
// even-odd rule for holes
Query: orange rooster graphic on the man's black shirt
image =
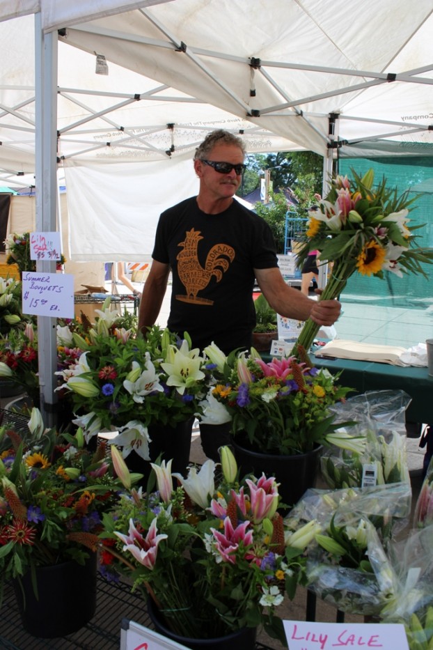
{"label": "orange rooster graphic on the man's black shirt", "polygon": [[182,251],[178,254],[178,275],[186,290],[185,295],[176,295],[176,300],[182,302],[194,302],[195,304],[213,304],[213,300],[207,300],[198,296],[210,283],[212,276],[219,282],[235,259],[233,247],[227,244],[215,244],[207,253],[205,268],[198,261],[198,242],[203,239],[201,231],[191,230],[185,233],[183,242],[178,246]]}

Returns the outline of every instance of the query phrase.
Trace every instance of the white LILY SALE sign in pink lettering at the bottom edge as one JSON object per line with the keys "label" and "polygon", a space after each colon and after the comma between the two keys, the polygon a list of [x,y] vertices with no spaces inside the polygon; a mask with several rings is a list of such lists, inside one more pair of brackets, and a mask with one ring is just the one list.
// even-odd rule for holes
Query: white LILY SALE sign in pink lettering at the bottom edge
{"label": "white LILY SALE sign in pink lettering at the bottom edge", "polygon": [[409,650],[404,625],[397,623],[283,623],[289,650]]}

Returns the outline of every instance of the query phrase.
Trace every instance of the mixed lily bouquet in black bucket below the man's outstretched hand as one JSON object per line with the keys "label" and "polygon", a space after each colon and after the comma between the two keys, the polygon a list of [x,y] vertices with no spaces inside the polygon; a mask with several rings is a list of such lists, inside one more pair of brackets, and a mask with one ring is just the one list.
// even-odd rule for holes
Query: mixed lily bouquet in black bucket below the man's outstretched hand
{"label": "mixed lily bouquet in black bucket below the man's outstretched hand", "polygon": [[201,421],[229,421],[242,444],[268,454],[305,454],[320,444],[363,450],[362,437],[336,431],[342,424],[333,425],[330,407],[350,390],[338,385],[338,376],[295,357],[266,363],[255,350],[249,357],[224,357],[212,345],[205,353],[218,382],[201,403]]}

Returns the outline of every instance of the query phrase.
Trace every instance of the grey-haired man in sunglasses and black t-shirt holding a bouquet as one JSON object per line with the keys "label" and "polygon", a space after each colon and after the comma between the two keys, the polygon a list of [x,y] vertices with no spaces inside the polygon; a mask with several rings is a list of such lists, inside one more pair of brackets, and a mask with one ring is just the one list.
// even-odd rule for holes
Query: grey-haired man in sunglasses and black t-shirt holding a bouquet
{"label": "grey-haired man in sunglasses and black t-shirt holding a bouquet", "polygon": [[[224,130],[208,134],[194,155],[198,196],[162,213],[152,266],[145,281],[139,330],[155,323],[173,274],[168,328],[188,332],[203,350],[214,341],[224,353],[249,348],[255,325],[255,280],[281,316],[332,325],[340,314],[336,300],[310,300],[285,284],[278,269],[274,238],[266,222],[233,196],[244,171],[242,139]],[[224,426],[201,425],[206,456],[219,461],[228,442]]]}

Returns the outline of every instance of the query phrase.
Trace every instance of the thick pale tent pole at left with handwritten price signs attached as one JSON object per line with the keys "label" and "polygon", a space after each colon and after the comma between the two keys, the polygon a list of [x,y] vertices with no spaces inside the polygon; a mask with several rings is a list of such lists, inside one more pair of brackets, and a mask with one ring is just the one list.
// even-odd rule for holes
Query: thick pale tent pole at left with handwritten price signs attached
{"label": "thick pale tent pole at left with handwritten price signs attached", "polygon": [[[36,231],[56,231],[57,33],[42,32],[35,14]],[[56,272],[56,261],[37,261],[37,272]],[[45,426],[56,424],[56,318],[38,316],[40,412]]]}

